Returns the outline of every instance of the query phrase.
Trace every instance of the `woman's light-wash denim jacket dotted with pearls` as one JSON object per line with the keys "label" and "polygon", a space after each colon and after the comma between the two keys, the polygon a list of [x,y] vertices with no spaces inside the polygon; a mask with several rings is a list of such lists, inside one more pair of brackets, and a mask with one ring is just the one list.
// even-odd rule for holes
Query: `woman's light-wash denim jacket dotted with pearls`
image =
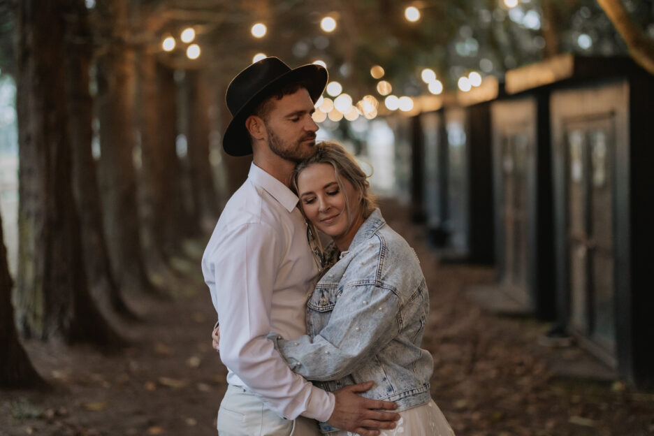
{"label": "woman's light-wash denim jacket dotted with pearls", "polygon": [[[374,380],[367,398],[398,412],[429,402],[433,359],[420,348],[429,296],[418,258],[379,209],[307,302],[307,335],[270,339],[290,368],[326,391]],[[321,430],[336,430],[321,423]]]}

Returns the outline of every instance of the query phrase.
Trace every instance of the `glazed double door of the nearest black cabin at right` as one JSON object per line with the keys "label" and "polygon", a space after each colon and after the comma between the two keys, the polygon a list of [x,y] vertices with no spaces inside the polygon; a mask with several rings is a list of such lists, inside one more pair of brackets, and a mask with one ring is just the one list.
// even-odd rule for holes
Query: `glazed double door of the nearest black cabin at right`
{"label": "glazed double door of the nearest black cabin at right", "polygon": [[613,119],[579,120],[565,130],[569,326],[615,366]]}

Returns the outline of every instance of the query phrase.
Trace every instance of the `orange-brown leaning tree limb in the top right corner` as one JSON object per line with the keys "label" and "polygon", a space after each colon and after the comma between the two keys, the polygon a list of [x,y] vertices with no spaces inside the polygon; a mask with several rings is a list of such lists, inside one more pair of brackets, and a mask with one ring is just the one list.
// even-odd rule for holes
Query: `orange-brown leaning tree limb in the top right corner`
{"label": "orange-brown leaning tree limb in the top right corner", "polygon": [[634,23],[620,0],[597,0],[597,3],[624,38],[634,61],[654,74],[654,41]]}

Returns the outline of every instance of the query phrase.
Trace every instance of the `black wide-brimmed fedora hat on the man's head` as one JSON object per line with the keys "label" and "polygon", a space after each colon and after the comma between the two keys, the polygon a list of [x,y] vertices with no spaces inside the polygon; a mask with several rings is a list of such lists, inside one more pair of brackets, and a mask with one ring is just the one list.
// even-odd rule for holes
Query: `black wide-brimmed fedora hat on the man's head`
{"label": "black wide-brimmed fedora hat on the man's head", "polygon": [[227,108],[232,114],[231,122],[223,136],[223,148],[231,156],[252,153],[245,119],[261,101],[275,90],[290,83],[302,82],[315,103],[327,84],[327,70],[323,66],[309,64],[290,68],[277,57],[266,57],[238,73],[227,87]]}

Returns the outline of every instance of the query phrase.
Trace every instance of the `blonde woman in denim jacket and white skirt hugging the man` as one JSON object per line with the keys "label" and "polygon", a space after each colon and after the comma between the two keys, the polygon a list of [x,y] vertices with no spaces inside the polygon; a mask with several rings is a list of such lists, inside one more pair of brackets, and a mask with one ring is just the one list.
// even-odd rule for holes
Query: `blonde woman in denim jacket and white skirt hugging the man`
{"label": "blonde woman in denim jacket and white skirt hugging the man", "polygon": [[[298,164],[292,184],[312,248],[333,266],[307,302],[307,335],[271,333],[275,347],[294,372],[326,391],[374,380],[364,395],[396,402],[401,416],[382,435],[453,435],[430,398],[433,359],[420,348],[429,297],[418,258],[375,208],[365,173],[343,147],[321,143]],[[312,227],[333,239],[326,256]]]}

